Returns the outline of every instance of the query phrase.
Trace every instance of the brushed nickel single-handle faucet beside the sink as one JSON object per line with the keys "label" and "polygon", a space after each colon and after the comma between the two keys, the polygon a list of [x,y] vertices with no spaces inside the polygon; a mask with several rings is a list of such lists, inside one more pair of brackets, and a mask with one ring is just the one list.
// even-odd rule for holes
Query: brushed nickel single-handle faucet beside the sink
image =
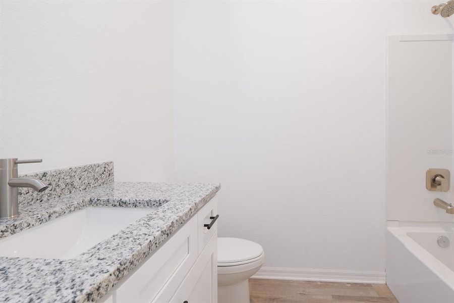
{"label": "brushed nickel single-handle faucet beside the sink", "polygon": [[30,187],[43,192],[47,185],[36,178],[18,178],[17,165],[40,163],[42,159],[17,160],[0,159],[0,219],[11,219],[19,215],[18,187]]}

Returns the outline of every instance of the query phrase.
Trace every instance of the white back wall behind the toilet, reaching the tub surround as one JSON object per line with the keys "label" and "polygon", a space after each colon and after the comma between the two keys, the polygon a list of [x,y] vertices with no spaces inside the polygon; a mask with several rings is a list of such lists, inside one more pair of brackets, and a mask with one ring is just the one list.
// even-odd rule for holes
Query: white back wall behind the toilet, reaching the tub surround
{"label": "white back wall behind the toilet, reaching the tub surround", "polygon": [[174,3],[176,171],[221,182],[221,236],[384,272],[385,37],[451,32],[434,4]]}

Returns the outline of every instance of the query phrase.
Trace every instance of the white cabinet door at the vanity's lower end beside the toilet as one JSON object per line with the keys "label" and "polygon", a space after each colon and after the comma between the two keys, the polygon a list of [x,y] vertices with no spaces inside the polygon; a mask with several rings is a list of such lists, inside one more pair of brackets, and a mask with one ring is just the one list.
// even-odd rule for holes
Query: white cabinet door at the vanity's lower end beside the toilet
{"label": "white cabinet door at the vanity's lower end beside the toilet", "polygon": [[217,302],[217,232],[213,234],[171,302]]}

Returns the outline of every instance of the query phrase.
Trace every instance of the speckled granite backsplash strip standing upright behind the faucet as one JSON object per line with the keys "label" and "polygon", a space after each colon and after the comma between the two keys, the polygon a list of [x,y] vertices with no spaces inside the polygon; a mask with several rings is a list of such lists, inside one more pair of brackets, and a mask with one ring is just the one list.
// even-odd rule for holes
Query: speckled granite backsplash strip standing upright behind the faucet
{"label": "speckled granite backsplash strip standing upright behind the faucet", "polygon": [[31,188],[19,188],[19,205],[28,205],[112,183],[113,162],[54,169],[20,177],[37,178],[49,186],[40,193]]}

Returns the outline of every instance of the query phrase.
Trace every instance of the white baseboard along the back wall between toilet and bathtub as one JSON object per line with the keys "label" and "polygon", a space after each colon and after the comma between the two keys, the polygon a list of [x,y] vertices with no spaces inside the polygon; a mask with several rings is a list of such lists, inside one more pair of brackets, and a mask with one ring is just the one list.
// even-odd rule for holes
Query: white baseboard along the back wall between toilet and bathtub
{"label": "white baseboard along the back wall between toilet and bathtub", "polygon": [[252,279],[384,284],[384,272],[262,267]]}

